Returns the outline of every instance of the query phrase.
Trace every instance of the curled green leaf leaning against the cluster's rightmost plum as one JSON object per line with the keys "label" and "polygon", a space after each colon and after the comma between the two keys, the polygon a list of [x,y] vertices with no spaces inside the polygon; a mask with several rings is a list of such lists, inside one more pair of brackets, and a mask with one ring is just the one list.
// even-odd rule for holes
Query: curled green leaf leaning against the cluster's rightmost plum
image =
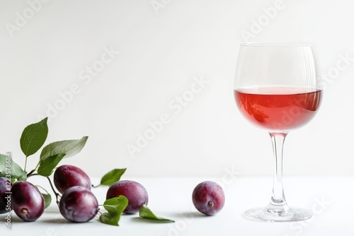
{"label": "curled green leaf leaning against the cluster's rightmost plum", "polygon": [[128,199],[122,195],[105,200],[103,207],[107,212],[100,216],[101,223],[118,226],[120,216],[127,206]]}

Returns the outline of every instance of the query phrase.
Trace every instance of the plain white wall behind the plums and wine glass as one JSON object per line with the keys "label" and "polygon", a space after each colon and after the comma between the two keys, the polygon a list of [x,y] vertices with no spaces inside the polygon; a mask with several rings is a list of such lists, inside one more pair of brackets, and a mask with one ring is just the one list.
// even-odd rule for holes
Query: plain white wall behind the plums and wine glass
{"label": "plain white wall behind the plums and wine glass", "polygon": [[[344,0],[1,0],[0,153],[11,151],[23,166],[21,132],[50,116],[46,144],[89,136],[81,153],[63,160],[89,175],[119,167],[127,176],[272,175],[268,134],[234,104],[237,52],[245,40],[303,41],[316,43],[322,73],[332,78],[316,117],[287,136],[284,175],[352,175],[353,22]],[[119,54],[91,81],[81,79],[107,49]],[[176,112],[169,104],[193,78],[209,83]],[[60,94],[75,84],[79,92],[65,102]],[[127,147],[165,113],[169,124],[131,155]]]}

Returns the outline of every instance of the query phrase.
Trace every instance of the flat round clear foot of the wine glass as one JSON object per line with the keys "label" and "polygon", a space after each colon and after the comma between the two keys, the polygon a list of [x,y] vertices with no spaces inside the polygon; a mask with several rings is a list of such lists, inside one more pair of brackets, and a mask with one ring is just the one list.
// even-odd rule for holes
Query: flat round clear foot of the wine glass
{"label": "flat round clear foot of the wine glass", "polygon": [[292,207],[290,207],[287,211],[272,211],[266,207],[256,207],[245,211],[243,217],[247,220],[253,221],[289,222],[307,220],[312,217],[312,211]]}

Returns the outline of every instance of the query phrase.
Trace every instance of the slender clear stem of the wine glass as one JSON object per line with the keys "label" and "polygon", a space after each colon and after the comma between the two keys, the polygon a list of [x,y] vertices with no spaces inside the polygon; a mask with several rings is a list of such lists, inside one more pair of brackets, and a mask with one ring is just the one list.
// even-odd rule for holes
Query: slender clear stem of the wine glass
{"label": "slender clear stem of the wine glass", "polygon": [[282,188],[282,151],[287,133],[269,133],[273,144],[275,158],[273,176],[273,195],[268,205],[268,211],[282,213],[289,210]]}

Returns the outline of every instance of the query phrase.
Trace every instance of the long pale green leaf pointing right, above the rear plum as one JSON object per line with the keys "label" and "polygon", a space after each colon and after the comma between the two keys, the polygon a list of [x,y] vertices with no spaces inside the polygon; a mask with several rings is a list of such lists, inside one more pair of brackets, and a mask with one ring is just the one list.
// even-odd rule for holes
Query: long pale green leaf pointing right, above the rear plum
{"label": "long pale green leaf pointing right, above the rear plum", "polygon": [[82,150],[82,148],[84,148],[87,138],[89,137],[85,136],[81,139],[57,141],[48,144],[40,153],[40,162],[58,154],[65,154],[65,158],[70,158],[73,155],[76,155]]}

